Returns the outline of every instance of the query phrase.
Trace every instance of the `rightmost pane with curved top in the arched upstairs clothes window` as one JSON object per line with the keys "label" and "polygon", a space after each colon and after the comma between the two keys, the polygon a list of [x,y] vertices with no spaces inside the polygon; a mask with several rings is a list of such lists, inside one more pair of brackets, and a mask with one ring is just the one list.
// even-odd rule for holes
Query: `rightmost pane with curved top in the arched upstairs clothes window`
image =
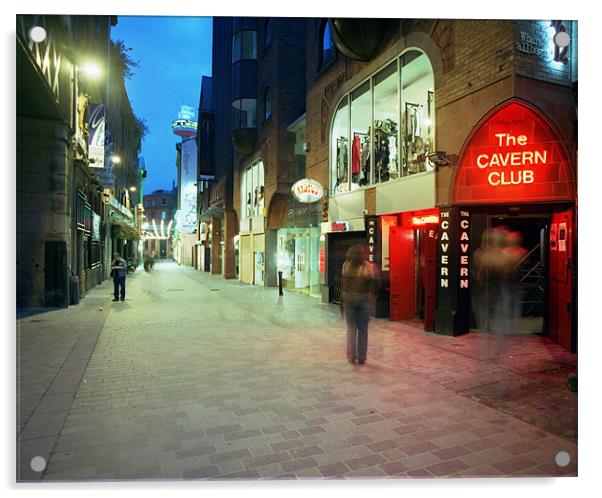
{"label": "rightmost pane with curved top in the arched upstairs clothes window", "polygon": [[434,83],[425,54],[411,51],[401,57],[404,176],[433,169],[427,155],[434,150]]}

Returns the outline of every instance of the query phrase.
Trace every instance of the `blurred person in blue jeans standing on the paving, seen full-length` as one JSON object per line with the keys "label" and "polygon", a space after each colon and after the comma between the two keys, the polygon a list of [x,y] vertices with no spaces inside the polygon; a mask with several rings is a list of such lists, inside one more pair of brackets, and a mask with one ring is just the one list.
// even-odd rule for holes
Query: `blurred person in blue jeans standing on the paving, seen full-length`
{"label": "blurred person in blue jeans standing on the paving, seen full-length", "polygon": [[366,361],[370,302],[375,294],[376,275],[368,261],[368,249],[356,245],[347,251],[342,272],[342,310],[347,323],[347,360]]}

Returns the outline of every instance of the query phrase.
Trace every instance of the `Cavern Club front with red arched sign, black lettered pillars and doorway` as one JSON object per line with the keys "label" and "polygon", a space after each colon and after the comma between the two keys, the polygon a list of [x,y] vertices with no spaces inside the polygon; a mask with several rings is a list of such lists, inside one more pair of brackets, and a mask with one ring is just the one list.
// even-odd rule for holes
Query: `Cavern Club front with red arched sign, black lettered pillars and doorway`
{"label": "Cavern Club front with red arched sign, black lettered pillars and doorway", "polygon": [[545,334],[576,349],[575,179],[535,106],[511,99],[482,118],[440,212],[437,332]]}

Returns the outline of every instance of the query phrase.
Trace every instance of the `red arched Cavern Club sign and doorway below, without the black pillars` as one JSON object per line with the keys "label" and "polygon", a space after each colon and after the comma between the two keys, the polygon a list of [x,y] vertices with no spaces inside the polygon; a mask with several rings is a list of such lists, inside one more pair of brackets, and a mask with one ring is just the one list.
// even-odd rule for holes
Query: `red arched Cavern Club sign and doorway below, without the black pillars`
{"label": "red arched Cavern Club sign and doorway below, without the black pillars", "polygon": [[478,123],[462,148],[451,190],[452,206],[471,217],[473,328],[499,328],[492,316],[510,313],[504,312],[510,309],[504,291],[494,288],[496,278],[487,276],[495,272],[478,266],[483,251],[492,250],[492,233],[502,248],[515,239],[499,234],[519,234],[525,250],[511,270],[512,292],[520,298],[512,304],[512,323],[503,327],[518,333],[530,323],[525,332],[543,332],[567,350],[575,348],[575,196],[564,140],[540,110],[512,99]]}

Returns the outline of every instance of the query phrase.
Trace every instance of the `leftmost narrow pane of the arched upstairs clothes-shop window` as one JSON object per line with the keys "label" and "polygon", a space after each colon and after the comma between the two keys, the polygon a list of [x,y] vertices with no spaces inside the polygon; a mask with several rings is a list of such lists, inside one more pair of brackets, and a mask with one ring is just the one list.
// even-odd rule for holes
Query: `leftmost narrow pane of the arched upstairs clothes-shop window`
{"label": "leftmost narrow pane of the arched upstairs clothes-shop window", "polygon": [[333,193],[349,190],[349,102],[339,104],[332,125],[330,185]]}

